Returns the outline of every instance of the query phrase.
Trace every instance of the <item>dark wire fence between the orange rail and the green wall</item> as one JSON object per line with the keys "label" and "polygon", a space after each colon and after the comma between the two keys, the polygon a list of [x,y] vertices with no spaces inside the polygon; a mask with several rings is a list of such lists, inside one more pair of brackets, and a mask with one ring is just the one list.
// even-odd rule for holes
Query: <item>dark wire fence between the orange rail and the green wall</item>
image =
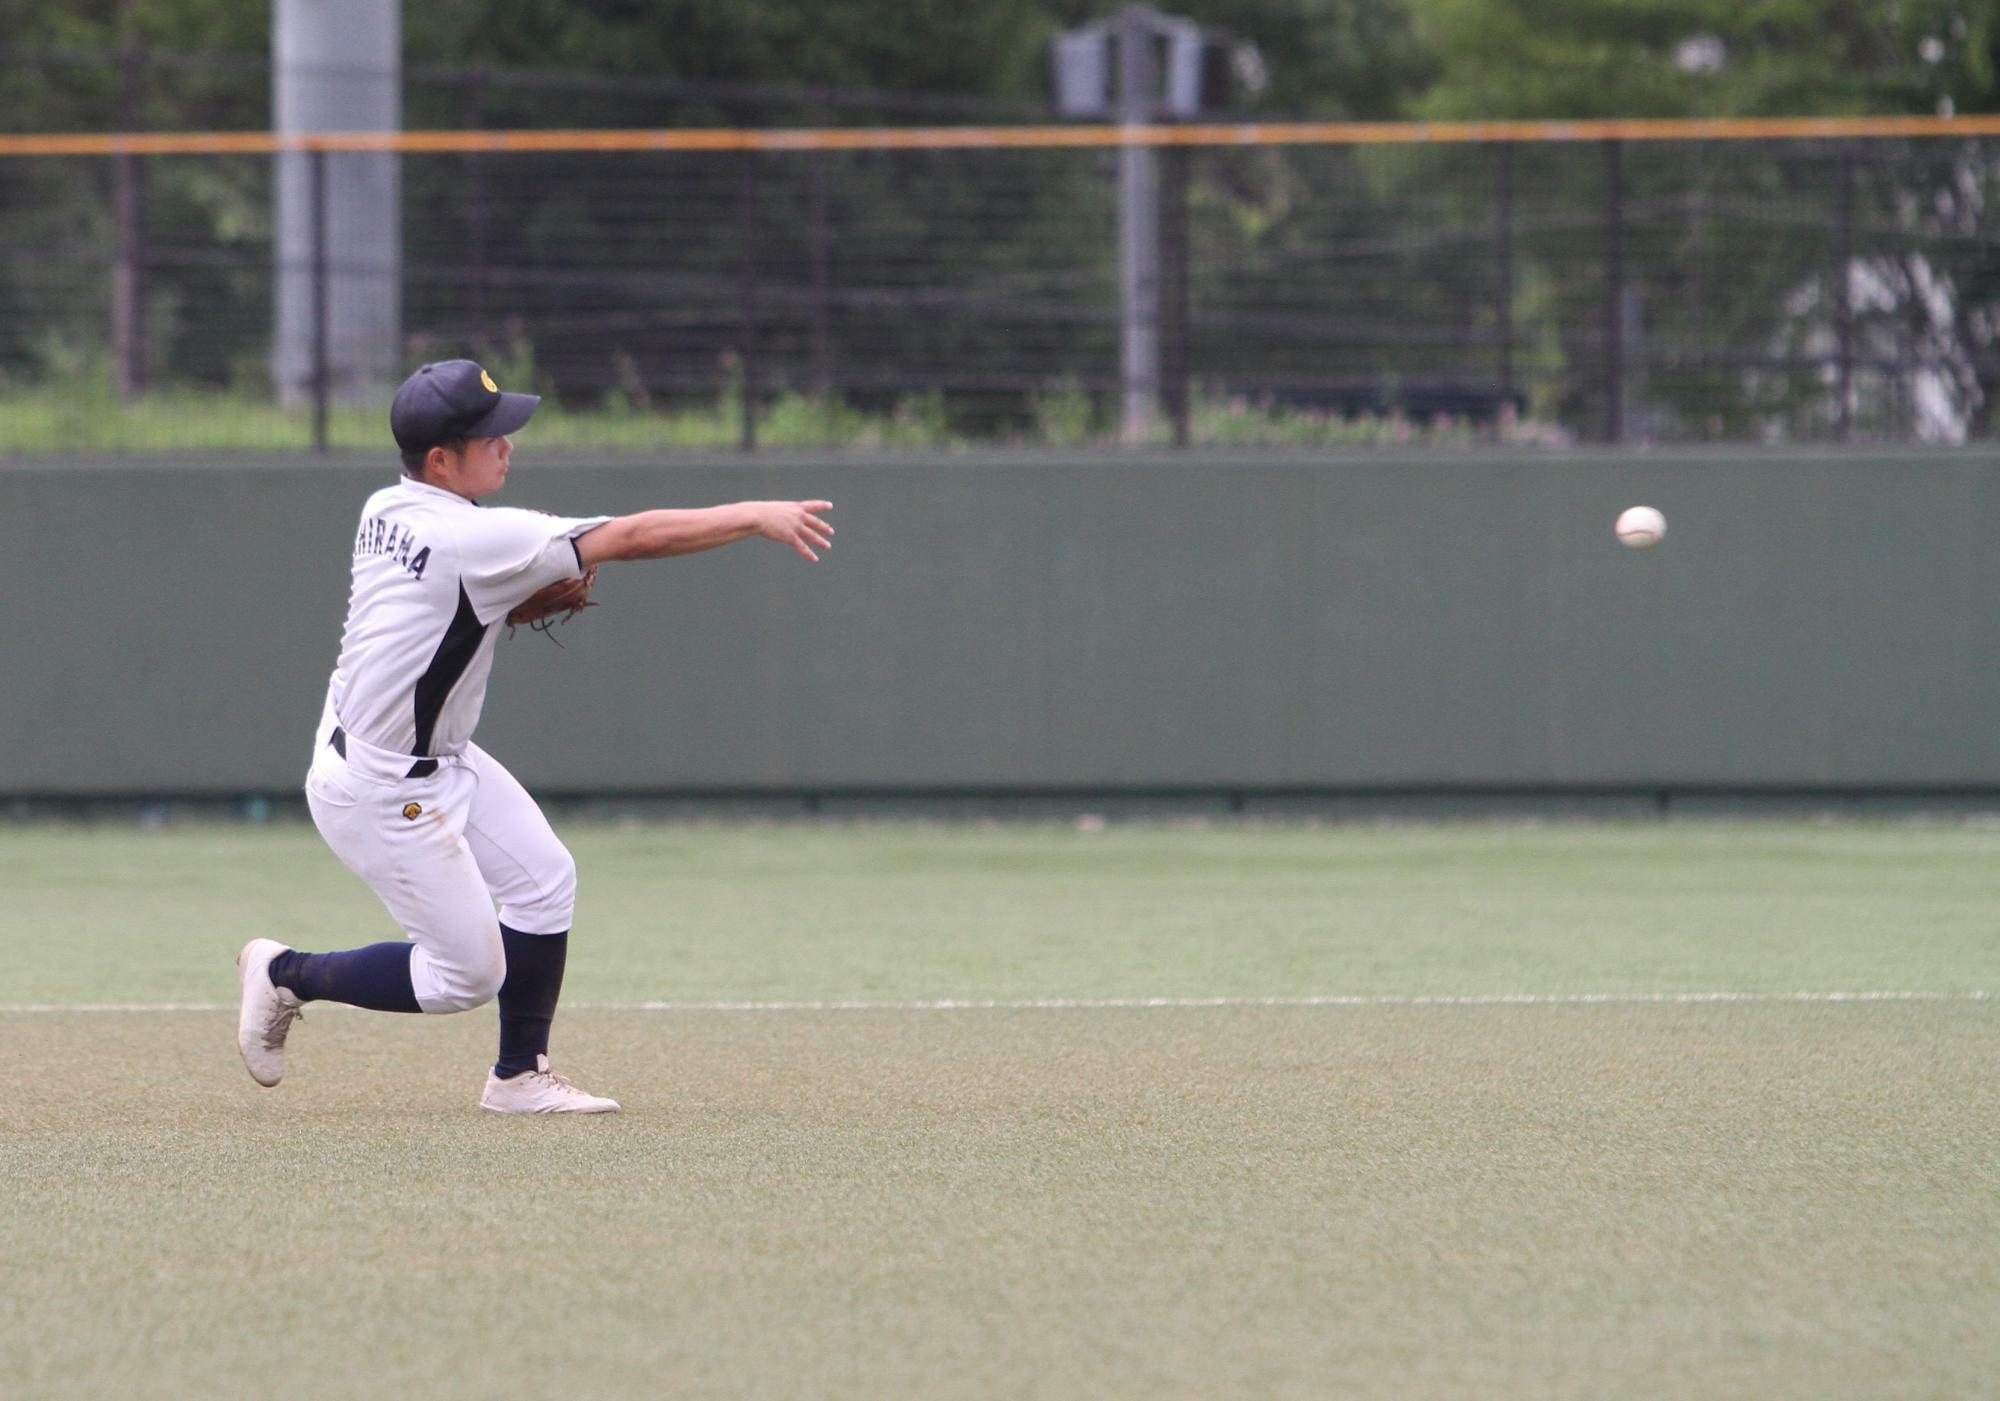
{"label": "dark wire fence between the orange rail and the green wall", "polygon": [[[426,92],[412,124],[550,110],[492,78]],[[568,92],[564,112],[634,100]],[[784,100],[756,114],[860,98]],[[548,396],[538,444],[1116,438],[1118,150],[906,138],[0,154],[0,452],[382,446],[394,376],[344,368],[362,360],[334,334],[370,276],[396,308],[352,332],[394,338],[376,362],[484,360]],[[398,262],[344,260],[322,194],[312,252],[280,266],[284,160],[322,190],[340,162],[392,162]],[[1978,438],[2000,390],[1996,182],[1992,136],[1168,144],[1150,432]],[[284,276],[318,318],[302,378],[276,368]]]}

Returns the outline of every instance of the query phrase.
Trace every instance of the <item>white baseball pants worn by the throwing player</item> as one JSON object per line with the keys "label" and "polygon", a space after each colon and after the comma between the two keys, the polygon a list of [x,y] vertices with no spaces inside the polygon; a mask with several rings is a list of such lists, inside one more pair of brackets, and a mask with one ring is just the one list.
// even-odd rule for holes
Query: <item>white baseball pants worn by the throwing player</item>
{"label": "white baseball pants worn by the throwing player", "polygon": [[[426,1013],[490,1001],[506,979],[500,925],[560,935],[576,911],[576,863],[528,791],[478,745],[406,779],[412,759],[322,727],[306,807],[334,855],[416,943],[410,981]],[[500,913],[494,915],[494,903]]]}

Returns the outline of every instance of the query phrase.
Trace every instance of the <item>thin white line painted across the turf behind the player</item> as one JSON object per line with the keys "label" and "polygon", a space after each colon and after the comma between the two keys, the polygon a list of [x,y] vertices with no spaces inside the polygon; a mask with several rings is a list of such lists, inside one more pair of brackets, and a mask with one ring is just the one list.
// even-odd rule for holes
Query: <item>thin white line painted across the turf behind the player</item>
{"label": "thin white line painted across the turf behind the player", "polygon": [[[592,1013],[1030,1013],[1030,1011],[1200,1011],[1208,1007],[1696,1007],[1708,1003],[1984,1003],[1992,993],[1384,993],[1306,997],[1014,997],[932,1001],[720,1001],[570,1003]],[[232,1013],[234,1003],[0,1003],[0,1015],[28,1013]]]}

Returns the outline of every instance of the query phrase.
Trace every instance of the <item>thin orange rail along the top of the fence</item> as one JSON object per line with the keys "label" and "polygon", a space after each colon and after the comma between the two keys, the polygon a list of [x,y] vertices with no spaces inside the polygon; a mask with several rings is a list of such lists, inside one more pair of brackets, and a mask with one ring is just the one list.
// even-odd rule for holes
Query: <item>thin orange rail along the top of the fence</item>
{"label": "thin orange rail along the top of the fence", "polygon": [[512,132],[78,132],[0,136],[0,156],[262,156],[302,150],[1008,150],[1092,146],[1390,146],[1590,140],[2000,136],[2000,116],[1614,118],[1588,122],[1240,122],[1188,126],[822,126]]}

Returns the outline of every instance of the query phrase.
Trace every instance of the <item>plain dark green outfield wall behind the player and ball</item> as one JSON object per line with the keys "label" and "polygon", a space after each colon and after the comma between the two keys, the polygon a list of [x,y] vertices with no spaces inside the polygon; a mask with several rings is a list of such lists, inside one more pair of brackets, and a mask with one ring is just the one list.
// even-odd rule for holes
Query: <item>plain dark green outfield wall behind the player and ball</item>
{"label": "plain dark green outfield wall behind the player and ball", "polygon": [[[0,468],[0,795],[290,793],[370,462]],[[1984,454],[536,464],[564,514],[828,496],[502,640],[568,793],[2000,791]],[[1666,510],[1624,550],[1614,514]]]}

